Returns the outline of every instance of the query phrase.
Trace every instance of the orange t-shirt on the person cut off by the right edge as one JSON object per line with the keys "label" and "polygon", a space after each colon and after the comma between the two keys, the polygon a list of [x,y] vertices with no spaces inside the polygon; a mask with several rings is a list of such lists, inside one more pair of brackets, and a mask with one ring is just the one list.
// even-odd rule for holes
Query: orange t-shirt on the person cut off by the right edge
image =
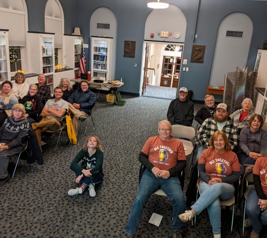
{"label": "orange t-shirt on the person cut off by the right edge", "polygon": [[267,157],[260,157],[256,160],[253,174],[259,175],[262,191],[267,195]]}

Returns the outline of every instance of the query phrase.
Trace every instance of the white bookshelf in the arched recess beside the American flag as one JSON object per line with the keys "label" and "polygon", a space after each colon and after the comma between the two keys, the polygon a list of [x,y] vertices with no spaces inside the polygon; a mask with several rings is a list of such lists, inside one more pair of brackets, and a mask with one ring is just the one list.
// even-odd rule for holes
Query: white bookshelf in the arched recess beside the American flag
{"label": "white bookshelf in the arched recess beside the American flag", "polygon": [[91,37],[91,77],[100,77],[107,81],[113,79],[112,44],[112,38]]}

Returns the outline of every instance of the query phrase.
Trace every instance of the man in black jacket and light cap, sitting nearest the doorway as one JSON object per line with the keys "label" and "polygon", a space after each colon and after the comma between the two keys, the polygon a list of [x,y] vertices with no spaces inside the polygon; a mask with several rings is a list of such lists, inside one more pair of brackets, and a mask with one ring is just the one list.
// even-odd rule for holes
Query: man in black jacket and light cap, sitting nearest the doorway
{"label": "man in black jacket and light cap, sitting nearest the doorway", "polygon": [[186,98],[187,95],[187,88],[181,87],[179,98],[171,101],[167,118],[172,125],[192,126],[194,120],[194,104]]}

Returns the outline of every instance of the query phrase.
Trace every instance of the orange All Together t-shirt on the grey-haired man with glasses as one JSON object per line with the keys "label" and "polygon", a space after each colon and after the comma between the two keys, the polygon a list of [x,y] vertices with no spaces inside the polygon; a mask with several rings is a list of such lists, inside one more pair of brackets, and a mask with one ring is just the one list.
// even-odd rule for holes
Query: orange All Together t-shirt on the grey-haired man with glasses
{"label": "orange All Together t-shirt on the grey-haired man with glasses", "polygon": [[151,137],[145,143],[142,152],[161,170],[169,170],[176,166],[178,160],[186,160],[183,143],[174,138],[163,141],[160,136]]}

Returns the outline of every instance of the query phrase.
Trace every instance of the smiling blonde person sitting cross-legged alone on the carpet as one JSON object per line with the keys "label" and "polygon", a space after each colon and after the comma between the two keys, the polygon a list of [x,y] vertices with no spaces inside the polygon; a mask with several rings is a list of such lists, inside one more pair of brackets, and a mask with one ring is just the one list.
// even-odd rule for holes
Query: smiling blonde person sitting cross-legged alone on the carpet
{"label": "smiling blonde person sitting cross-legged alone on the carpet", "polygon": [[[79,151],[70,165],[70,169],[76,174],[76,183],[81,184],[80,187],[68,191],[70,196],[83,193],[87,186],[89,186],[89,195],[96,196],[94,185],[103,182],[103,158],[103,149],[99,139],[96,136],[89,136],[83,149]],[[80,161],[82,162],[79,163]]]}

